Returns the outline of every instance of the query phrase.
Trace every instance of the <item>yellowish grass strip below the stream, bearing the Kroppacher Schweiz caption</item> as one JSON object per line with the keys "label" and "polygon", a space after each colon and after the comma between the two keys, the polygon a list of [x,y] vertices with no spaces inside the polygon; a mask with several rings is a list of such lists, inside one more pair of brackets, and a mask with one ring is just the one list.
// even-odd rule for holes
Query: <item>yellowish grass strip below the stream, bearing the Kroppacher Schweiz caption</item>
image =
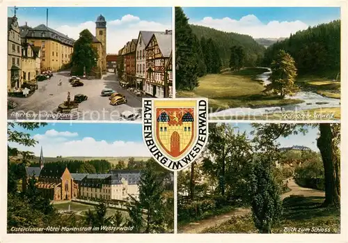
{"label": "yellowish grass strip below the stream, bearing the Kroppacher Schweiz caption", "polygon": [[224,116],[212,117],[212,120],[337,120],[340,119],[340,107],[290,111],[264,114],[264,116]]}

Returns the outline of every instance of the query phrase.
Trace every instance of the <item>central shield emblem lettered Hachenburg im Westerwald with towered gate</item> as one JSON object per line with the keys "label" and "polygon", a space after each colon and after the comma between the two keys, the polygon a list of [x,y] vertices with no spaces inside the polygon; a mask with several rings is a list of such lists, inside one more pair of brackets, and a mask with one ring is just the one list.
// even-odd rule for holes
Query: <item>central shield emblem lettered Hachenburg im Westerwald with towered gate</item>
{"label": "central shield emblem lettered Hachenburg im Westerwald with towered gate", "polygon": [[152,157],[170,171],[197,159],[207,143],[206,99],[143,98],[143,138]]}

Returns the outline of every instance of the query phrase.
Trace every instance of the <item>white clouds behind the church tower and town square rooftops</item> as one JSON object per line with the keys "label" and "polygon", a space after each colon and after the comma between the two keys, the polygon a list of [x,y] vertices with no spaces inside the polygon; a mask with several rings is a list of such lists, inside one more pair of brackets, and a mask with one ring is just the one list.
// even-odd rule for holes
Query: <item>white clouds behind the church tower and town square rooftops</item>
{"label": "white clouds behind the church tower and town square rooftops", "polygon": [[[107,21],[107,19],[106,19]],[[37,19],[26,19],[29,26],[38,26],[42,22],[38,22]],[[25,22],[19,24],[24,25]],[[88,29],[90,33],[95,35],[95,22],[90,20],[79,24],[64,24],[58,22],[49,22],[49,27],[64,33],[65,35],[77,40],[79,33],[84,29]],[[106,22],[106,52],[112,54],[118,54],[120,50],[129,40],[138,38],[139,31],[166,31],[166,29],[172,29],[171,16],[168,16],[168,20],[164,19],[163,22],[152,22],[142,20],[138,16],[124,15],[120,19],[111,19]]]}

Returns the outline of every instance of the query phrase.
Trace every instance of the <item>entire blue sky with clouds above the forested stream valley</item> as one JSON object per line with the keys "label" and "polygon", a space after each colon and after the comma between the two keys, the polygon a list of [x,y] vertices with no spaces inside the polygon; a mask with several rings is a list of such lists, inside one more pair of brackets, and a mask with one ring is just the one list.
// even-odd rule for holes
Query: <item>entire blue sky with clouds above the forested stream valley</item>
{"label": "entire blue sky with clouds above the forested stream valley", "polygon": [[286,38],[308,26],[340,19],[339,7],[183,8],[190,24],[253,38]]}

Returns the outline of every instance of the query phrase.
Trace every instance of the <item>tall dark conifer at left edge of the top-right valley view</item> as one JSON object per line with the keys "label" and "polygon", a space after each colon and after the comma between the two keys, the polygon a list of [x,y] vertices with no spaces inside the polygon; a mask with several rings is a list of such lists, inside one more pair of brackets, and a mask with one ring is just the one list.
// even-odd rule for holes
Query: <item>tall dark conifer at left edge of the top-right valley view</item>
{"label": "tall dark conifer at left edge of the top-right valley view", "polygon": [[188,18],[180,7],[175,7],[175,85],[177,90],[193,90],[198,86],[197,45]]}

